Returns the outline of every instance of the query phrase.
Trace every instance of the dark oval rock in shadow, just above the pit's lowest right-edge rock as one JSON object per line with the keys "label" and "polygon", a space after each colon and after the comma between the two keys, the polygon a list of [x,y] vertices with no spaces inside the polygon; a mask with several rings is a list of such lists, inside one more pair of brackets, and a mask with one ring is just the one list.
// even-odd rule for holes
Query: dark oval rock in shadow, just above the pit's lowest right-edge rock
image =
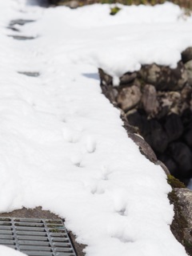
{"label": "dark oval rock in shadow, just above the pit's lowest right-edge rock", "polygon": [[177,140],[180,136],[182,136],[182,132],[184,129],[180,116],[176,114],[166,116],[164,128],[166,130],[169,141]]}

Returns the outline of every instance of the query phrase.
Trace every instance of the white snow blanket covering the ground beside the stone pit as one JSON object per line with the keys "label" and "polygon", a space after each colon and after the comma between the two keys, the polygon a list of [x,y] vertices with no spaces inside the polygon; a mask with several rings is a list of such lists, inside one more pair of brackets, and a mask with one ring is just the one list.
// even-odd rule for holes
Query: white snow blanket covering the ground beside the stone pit
{"label": "white snow blanket covering the ground beside the stone pit", "polygon": [[[0,211],[58,213],[87,256],[184,256],[170,232],[166,174],[127,137],[97,68],[118,83],[142,63],[175,67],[192,45],[192,18],[168,3],[121,8],[110,16],[108,5],[0,2]],[[15,18],[35,22],[8,30]],[[2,246],[0,255],[19,253]]]}

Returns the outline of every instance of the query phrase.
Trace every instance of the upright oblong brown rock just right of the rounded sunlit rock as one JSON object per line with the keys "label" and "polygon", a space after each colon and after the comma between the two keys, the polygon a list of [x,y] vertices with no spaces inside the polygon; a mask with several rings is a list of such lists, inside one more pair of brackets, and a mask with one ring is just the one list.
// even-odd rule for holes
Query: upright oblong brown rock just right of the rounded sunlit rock
{"label": "upright oblong brown rock just right of the rounded sunlit rock", "polygon": [[158,113],[157,91],[153,85],[146,84],[142,93],[142,106],[147,115],[155,116]]}

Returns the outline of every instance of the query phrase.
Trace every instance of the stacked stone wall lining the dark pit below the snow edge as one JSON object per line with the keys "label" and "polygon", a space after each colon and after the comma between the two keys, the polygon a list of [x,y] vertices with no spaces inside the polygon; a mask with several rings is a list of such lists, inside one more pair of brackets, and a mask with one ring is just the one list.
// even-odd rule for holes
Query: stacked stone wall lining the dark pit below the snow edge
{"label": "stacked stone wall lining the dark pit below the snow edge", "polygon": [[151,65],[127,72],[118,87],[99,69],[101,86],[110,101],[154,149],[175,177],[192,177],[192,47],[182,52],[174,69]]}

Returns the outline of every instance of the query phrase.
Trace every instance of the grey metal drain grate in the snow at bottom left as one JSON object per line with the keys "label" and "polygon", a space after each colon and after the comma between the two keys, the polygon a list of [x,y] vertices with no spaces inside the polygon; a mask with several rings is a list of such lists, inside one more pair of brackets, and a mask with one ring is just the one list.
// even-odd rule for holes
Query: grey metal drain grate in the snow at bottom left
{"label": "grey metal drain grate in the snow at bottom left", "polygon": [[29,256],[76,256],[60,219],[1,217],[0,245]]}

